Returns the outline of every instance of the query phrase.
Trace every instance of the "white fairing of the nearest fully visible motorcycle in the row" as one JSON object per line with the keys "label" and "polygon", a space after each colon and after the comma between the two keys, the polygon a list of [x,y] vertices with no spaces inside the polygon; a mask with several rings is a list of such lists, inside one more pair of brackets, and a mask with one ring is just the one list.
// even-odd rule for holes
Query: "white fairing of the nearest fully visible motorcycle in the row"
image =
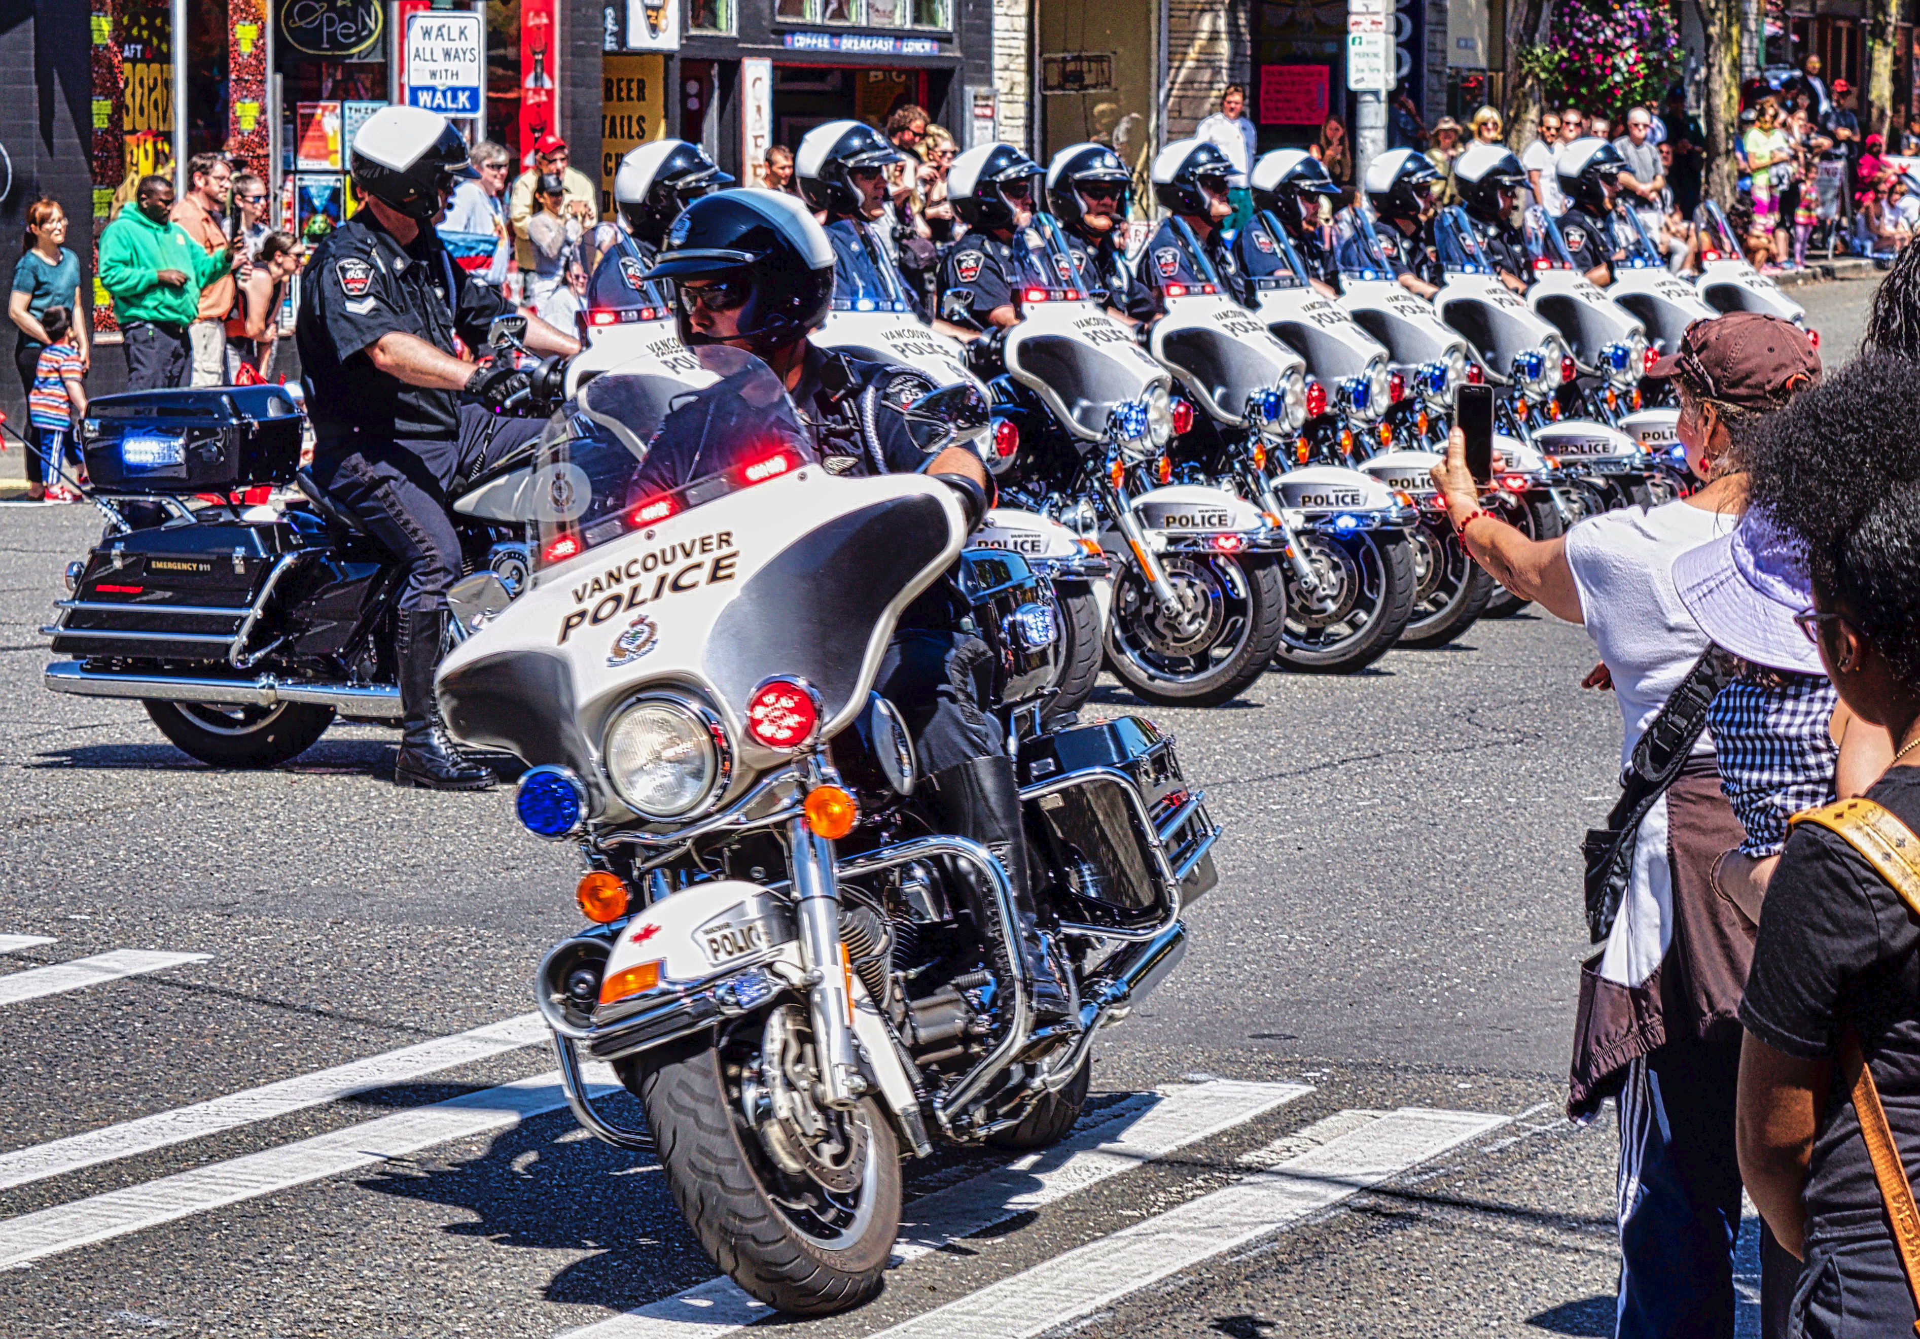
{"label": "white fairing of the nearest fully visible motorcycle in the row", "polygon": [[1167,369],[1135,344],[1133,332],[1091,302],[1025,304],[1000,353],[1008,375],[1083,442],[1106,438],[1108,415],[1117,405],[1144,400],[1152,386],[1171,382]]}

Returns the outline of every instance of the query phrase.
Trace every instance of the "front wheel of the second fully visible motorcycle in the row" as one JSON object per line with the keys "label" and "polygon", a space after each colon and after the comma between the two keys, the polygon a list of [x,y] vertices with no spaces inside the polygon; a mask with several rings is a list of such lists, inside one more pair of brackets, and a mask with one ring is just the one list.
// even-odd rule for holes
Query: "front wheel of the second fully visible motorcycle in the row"
{"label": "front wheel of the second fully visible motorcycle in the row", "polygon": [[1352,674],[1380,659],[1413,617],[1413,548],[1400,530],[1340,538],[1294,534],[1319,597],[1308,599],[1286,569],[1286,630],[1279,663],[1306,674]]}

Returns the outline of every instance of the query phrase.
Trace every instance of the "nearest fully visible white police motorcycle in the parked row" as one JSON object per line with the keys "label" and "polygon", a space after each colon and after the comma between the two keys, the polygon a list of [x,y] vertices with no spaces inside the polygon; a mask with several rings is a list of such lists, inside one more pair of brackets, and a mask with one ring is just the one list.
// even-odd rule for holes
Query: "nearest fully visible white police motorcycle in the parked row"
{"label": "nearest fully visible white police motorcycle in the parked row", "polygon": [[[962,154],[948,173],[954,207],[972,209],[972,183],[1018,173],[1020,159],[1010,144]],[[1279,644],[1286,536],[1231,492],[1140,476],[1173,438],[1167,371],[1092,302],[1052,215],[1018,227],[1010,254],[1020,321],[968,346],[995,417],[1018,432],[1000,496],[1100,546],[1114,572],[1106,663],[1131,692],[1162,705],[1229,701]],[[943,315],[973,321],[956,298],[948,290]],[[1238,319],[1269,338],[1244,311]],[[1284,403],[1275,394],[1261,411],[1279,417]]]}

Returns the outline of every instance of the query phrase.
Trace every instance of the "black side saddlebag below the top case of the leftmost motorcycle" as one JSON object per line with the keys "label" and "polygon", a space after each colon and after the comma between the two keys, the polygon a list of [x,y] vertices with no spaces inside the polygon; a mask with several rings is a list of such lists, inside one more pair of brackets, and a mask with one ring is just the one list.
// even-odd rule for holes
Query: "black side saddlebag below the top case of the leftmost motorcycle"
{"label": "black side saddlebag below the top case of the leftmost motorcycle", "polygon": [[79,588],[48,628],[54,651],[86,659],[238,659],[240,634],[253,645],[261,642],[248,615],[275,569],[300,561],[305,549],[298,540],[290,524],[238,521],[108,536],[86,555]]}

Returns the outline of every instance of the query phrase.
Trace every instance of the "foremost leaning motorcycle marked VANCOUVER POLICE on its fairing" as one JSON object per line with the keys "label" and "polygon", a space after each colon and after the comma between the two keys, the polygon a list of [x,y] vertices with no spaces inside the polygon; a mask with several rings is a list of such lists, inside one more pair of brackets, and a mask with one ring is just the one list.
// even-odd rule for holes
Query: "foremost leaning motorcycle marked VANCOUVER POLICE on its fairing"
{"label": "foremost leaning motorcycle marked VANCOUVER POLICE on its fairing", "polygon": [[[582,857],[586,920],[536,974],[574,1116],[659,1160],[739,1287],[820,1316],[883,1287],[902,1158],[1043,1149],[1073,1126],[1094,1037],[1185,953],[1219,828],[1152,722],[1041,724],[1044,582],[966,548],[960,494],[806,463],[762,363],[697,357],[737,405],[708,440],[745,463],[643,496],[687,382],[595,378],[540,444],[534,588],[467,592],[438,697],[459,738],[526,761],[520,822]],[[981,423],[927,402],[908,423],[929,451]],[[876,692],[897,619],[941,582],[993,651],[1025,899],[1008,857],[931,818]],[[1066,1016],[1037,1010],[1023,914],[1062,945]],[[589,1062],[645,1128],[607,1108]]]}

